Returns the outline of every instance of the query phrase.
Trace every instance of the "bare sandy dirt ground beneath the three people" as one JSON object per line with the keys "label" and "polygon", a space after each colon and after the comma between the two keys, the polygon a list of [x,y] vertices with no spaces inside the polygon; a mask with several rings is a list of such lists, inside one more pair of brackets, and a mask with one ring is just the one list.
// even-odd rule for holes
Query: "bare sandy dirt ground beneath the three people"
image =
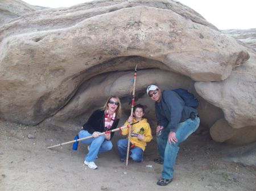
{"label": "bare sandy dirt ground beneath the three people", "polygon": [[[24,126],[0,121],[0,190],[256,190],[256,167],[226,162],[224,147],[212,141],[207,130],[198,129],[180,145],[174,181],[158,186],[162,165],[155,138],[144,152],[144,161],[119,162],[115,134],[113,150],[100,154],[98,169],[84,165],[88,152],[79,143],[46,147],[71,141],[77,131],[48,126]],[[152,165],[152,167],[147,167]]]}

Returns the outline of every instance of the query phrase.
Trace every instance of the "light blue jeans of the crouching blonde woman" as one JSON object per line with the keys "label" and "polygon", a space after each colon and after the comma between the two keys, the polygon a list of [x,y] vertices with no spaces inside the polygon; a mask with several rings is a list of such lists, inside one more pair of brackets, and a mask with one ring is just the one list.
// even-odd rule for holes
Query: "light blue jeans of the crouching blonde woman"
{"label": "light blue jeans of the crouching blonde woman", "polygon": [[[91,135],[92,134],[90,134],[86,130],[80,130],[79,132],[79,138],[84,138]],[[113,147],[112,142],[107,141],[105,139],[105,135],[101,135],[97,138],[85,139],[85,140],[82,140],[81,142],[86,145],[90,145],[90,150],[88,154],[85,156],[85,160],[87,162],[94,162],[96,160],[98,152],[106,152],[111,150]]]}

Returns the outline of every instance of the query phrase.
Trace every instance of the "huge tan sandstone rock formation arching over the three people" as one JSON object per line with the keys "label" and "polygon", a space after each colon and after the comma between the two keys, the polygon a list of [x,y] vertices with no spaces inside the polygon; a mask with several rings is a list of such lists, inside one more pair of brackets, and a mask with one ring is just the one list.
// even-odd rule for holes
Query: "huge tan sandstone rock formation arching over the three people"
{"label": "huge tan sandstone rock formation arching over the three people", "polygon": [[179,2],[93,1],[34,11],[0,27],[0,42],[5,120],[73,128],[113,94],[129,113],[138,63],[136,94],[152,123],[146,87],[156,83],[191,90],[201,125],[225,117],[232,128],[255,130],[255,52]]}

